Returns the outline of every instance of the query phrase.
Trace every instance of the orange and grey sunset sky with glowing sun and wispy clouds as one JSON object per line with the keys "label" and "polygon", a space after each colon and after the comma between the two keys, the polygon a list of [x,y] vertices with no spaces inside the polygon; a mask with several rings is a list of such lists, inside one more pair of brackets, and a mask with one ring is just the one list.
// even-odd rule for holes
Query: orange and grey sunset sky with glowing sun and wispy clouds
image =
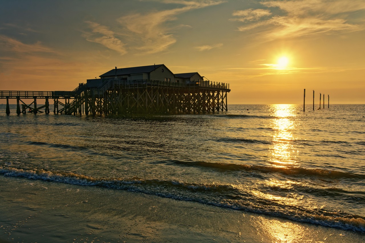
{"label": "orange and grey sunset sky with glowing sun and wispy clouds", "polygon": [[1,1],[0,90],[154,63],[230,83],[228,104],[364,104],[365,1]]}

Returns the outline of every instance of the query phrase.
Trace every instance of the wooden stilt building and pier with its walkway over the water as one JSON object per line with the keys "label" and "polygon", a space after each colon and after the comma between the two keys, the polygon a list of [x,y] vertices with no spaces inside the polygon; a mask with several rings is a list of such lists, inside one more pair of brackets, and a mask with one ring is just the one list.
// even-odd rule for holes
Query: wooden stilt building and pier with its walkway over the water
{"label": "wooden stilt building and pier with its walkway over the water", "polygon": [[[173,74],[165,65],[115,68],[73,91],[0,91],[16,99],[16,113],[57,114],[184,113],[227,111],[229,84],[204,80],[199,73]],[[26,104],[25,99],[32,99]],[[37,107],[37,99],[45,105]],[[22,109],[20,109],[22,107]]]}

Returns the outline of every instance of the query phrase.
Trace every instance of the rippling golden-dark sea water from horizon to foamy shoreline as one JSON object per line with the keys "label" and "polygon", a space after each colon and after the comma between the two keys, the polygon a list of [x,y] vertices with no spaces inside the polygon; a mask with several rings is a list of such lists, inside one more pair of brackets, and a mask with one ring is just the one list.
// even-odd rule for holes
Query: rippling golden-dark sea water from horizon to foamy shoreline
{"label": "rippling golden-dark sea water from horizon to foamy shoreline", "polygon": [[365,232],[365,105],[5,115],[0,176],[142,192]]}

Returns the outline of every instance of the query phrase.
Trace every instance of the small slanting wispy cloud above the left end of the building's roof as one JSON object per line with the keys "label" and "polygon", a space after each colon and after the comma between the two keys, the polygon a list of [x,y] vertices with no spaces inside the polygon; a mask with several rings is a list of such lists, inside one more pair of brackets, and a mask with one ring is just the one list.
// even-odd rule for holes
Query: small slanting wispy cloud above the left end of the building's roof
{"label": "small slanting wispy cloud above the left end of the building's roof", "polygon": [[91,32],[84,32],[83,36],[90,42],[99,43],[108,49],[118,51],[121,55],[127,53],[125,45],[120,39],[115,37],[115,33],[107,26],[101,24],[85,21],[91,28]]}

